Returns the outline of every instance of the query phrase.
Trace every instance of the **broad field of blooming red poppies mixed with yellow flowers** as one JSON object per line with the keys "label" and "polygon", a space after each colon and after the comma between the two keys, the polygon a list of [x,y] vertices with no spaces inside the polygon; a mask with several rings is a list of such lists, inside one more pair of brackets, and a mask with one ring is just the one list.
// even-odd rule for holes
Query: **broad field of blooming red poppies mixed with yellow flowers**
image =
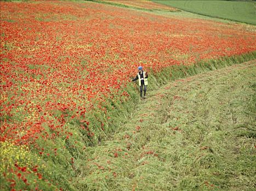
{"label": "broad field of blooming red poppies mixed with yellow flowers", "polygon": [[[94,2],[1,2],[0,141],[3,152],[22,145],[25,153],[1,158],[1,177],[12,172],[26,186],[26,176],[42,179],[40,157],[58,155],[59,148],[45,152],[43,143],[77,138],[76,131],[87,136],[84,145],[107,136],[111,110],[130,99],[139,65],[152,75],[175,64],[242,55],[256,50],[255,37],[238,23]],[[92,120],[95,111],[104,117]],[[37,157],[26,164],[31,152]],[[15,188],[14,178],[6,180]]]}

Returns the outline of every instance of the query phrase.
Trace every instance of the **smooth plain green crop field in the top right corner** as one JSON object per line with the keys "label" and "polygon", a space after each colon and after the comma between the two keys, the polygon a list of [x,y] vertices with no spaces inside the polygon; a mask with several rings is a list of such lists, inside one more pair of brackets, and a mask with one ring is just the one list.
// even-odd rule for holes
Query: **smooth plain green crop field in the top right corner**
{"label": "smooth plain green crop field in the top right corner", "polygon": [[253,1],[154,1],[206,16],[256,25]]}

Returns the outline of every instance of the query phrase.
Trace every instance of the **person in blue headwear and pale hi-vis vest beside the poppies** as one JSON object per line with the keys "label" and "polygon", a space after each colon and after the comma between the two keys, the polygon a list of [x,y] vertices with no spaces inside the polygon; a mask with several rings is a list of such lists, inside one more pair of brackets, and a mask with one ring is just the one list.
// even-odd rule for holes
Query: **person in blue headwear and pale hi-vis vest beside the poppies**
{"label": "person in blue headwear and pale hi-vis vest beside the poppies", "polygon": [[[136,77],[132,80],[132,81],[136,81],[139,80],[139,86],[140,86],[140,97],[141,98],[146,98],[146,91],[147,91],[147,77],[149,77],[147,75],[146,71],[143,71],[143,67],[138,67],[138,74],[136,75]],[[144,86],[144,89],[143,89]],[[143,90],[144,90],[144,96],[143,96]]]}

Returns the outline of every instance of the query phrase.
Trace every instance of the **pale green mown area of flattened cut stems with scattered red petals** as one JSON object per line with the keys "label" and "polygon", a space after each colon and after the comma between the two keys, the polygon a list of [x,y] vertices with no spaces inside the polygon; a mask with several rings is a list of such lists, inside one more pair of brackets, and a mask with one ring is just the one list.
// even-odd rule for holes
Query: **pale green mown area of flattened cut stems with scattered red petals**
{"label": "pale green mown area of flattened cut stems with scattered red petals", "polygon": [[86,149],[71,181],[84,190],[253,190],[255,74],[254,60],[149,92],[119,132]]}

